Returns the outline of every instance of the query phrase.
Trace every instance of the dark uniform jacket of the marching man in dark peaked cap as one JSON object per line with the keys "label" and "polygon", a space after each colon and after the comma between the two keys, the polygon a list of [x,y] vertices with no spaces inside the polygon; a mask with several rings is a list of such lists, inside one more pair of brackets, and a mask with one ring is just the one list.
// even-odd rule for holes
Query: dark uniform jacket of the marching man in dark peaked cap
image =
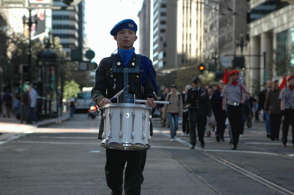
{"label": "dark uniform jacket of the marching man in dark peaked cap", "polygon": [[199,92],[195,88],[189,89],[186,103],[190,104],[188,120],[206,123],[206,116],[211,116],[211,101],[206,88],[201,87]]}

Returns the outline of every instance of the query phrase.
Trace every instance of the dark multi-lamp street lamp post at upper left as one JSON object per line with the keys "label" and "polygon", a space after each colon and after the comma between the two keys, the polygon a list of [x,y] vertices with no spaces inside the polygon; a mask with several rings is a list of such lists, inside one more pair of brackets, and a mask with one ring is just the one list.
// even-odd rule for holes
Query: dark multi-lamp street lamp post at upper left
{"label": "dark multi-lamp street lamp post at upper left", "polygon": [[38,23],[38,16],[35,15],[34,17],[34,22],[32,21],[32,17],[31,17],[31,9],[29,9],[29,21],[27,22],[27,18],[26,16],[24,15],[22,17],[22,20],[23,20],[23,23],[24,25],[27,24],[29,26],[29,56],[28,56],[28,81],[29,83],[31,83],[31,28],[32,28],[32,25],[33,24],[36,24],[36,29],[37,29],[37,23]]}

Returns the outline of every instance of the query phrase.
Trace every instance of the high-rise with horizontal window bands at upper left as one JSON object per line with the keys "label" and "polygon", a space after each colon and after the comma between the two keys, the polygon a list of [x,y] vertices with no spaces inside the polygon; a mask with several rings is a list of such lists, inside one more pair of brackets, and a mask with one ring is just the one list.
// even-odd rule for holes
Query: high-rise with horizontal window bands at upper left
{"label": "high-rise with horizontal window bands at upper left", "polygon": [[[66,5],[54,0],[53,6]],[[52,34],[60,37],[63,50],[70,56],[71,49],[83,48],[85,44],[85,0],[76,6],[66,9],[52,10]]]}

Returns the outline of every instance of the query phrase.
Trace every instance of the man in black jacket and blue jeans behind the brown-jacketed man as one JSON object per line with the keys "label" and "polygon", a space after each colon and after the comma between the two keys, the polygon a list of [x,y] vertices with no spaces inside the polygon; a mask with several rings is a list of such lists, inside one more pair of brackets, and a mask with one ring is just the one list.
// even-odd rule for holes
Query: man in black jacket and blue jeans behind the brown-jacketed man
{"label": "man in black jacket and blue jeans behind the brown-jacketed man", "polygon": [[264,104],[265,104],[266,93],[272,88],[272,86],[273,86],[273,82],[270,80],[267,81],[266,89],[263,90],[258,97],[258,114],[260,114],[260,110],[264,111],[263,119],[265,120],[266,136],[268,138],[270,137],[270,115],[268,113],[265,113]]}

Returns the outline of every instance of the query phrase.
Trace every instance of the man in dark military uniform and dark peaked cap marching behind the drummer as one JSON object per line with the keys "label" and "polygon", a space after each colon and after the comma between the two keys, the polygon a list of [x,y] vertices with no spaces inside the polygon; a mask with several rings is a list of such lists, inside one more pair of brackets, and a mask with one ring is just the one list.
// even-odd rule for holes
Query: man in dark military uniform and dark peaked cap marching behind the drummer
{"label": "man in dark military uniform and dark peaked cap marching behind the drummer", "polygon": [[189,126],[190,126],[190,142],[191,149],[196,145],[196,122],[198,130],[198,138],[201,147],[204,148],[204,133],[207,116],[211,117],[211,101],[206,88],[200,86],[201,81],[198,76],[192,80],[193,87],[188,90],[186,98],[186,107],[189,108]]}

